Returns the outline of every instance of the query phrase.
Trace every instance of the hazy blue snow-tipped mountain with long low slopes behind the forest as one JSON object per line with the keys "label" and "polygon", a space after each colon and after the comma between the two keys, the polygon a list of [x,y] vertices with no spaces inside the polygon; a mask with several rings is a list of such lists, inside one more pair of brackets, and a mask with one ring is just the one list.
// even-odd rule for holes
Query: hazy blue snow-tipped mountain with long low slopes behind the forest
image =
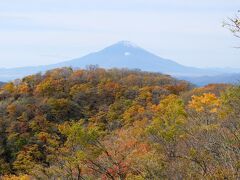
{"label": "hazy blue snow-tipped mountain with long low slopes behind the forest", "polygon": [[[0,69],[0,81],[22,78],[26,75],[45,72],[58,67],[85,68],[88,65],[98,65],[102,68],[141,69],[142,71],[161,72],[189,80],[188,77],[215,76],[227,71],[227,69],[201,69],[183,66],[172,60],[154,55],[131,42],[121,41],[101,51],[58,64]],[[235,70],[231,69],[232,71]]]}

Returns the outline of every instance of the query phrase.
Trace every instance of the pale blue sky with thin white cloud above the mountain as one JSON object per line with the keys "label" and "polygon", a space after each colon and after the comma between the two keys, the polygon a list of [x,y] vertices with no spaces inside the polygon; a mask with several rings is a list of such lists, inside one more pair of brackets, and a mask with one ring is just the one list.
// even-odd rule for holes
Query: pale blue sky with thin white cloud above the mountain
{"label": "pale blue sky with thin white cloud above the mountain", "polygon": [[239,0],[0,1],[0,67],[52,64],[120,40],[178,63],[240,68],[222,27]]}

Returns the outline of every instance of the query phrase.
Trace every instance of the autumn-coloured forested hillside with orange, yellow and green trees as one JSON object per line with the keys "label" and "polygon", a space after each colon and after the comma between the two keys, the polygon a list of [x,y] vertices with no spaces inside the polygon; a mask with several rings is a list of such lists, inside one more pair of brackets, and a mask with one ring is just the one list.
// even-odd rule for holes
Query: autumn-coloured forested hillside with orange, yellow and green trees
{"label": "autumn-coloured forested hillside with orange, yellow and green trees", "polygon": [[0,179],[238,179],[240,87],[55,69],[0,90]]}

